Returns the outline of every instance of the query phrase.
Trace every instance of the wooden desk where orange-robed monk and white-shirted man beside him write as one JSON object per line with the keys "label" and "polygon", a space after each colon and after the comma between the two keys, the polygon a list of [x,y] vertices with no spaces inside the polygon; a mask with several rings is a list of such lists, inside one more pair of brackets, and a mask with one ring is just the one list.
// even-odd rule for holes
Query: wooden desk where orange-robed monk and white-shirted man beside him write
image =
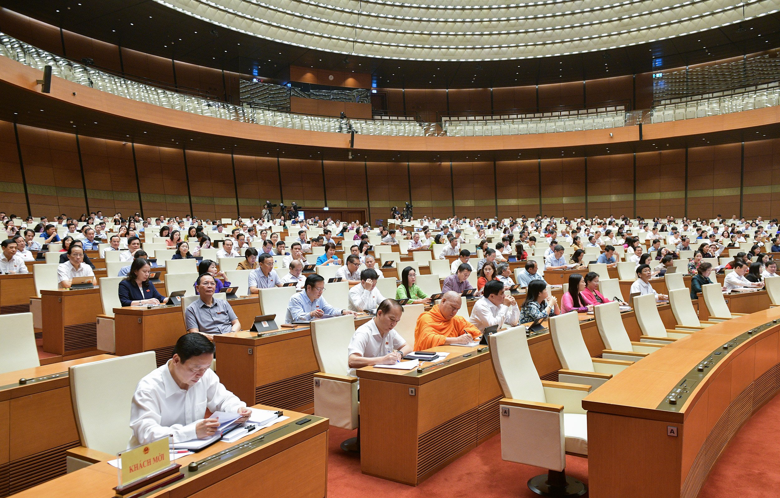
{"label": "wooden desk where orange-robed monk and white-shirted man beside him write", "polygon": [[374,367],[357,371],[363,474],[417,486],[498,433],[502,392],[487,350],[433,350],[449,352],[449,363],[423,373]]}

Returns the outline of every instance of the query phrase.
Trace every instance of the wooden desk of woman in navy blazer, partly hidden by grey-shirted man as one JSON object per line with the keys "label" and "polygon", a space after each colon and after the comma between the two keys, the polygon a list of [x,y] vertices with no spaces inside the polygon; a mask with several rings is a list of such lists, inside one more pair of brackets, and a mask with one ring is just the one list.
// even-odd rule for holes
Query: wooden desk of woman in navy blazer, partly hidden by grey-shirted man
{"label": "wooden desk of woman in navy blazer, partly hidden by grey-shirted man", "polygon": [[[254,317],[260,315],[257,296],[239,297],[228,302],[247,329],[254,323]],[[158,366],[173,356],[176,341],[186,332],[181,306],[114,308],[114,330],[117,356],[154,351]]]}

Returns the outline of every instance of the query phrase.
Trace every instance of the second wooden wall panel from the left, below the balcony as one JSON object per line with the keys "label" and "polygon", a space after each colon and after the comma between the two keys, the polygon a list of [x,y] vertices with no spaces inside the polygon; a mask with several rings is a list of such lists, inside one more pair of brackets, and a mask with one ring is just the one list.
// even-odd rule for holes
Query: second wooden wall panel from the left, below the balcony
{"label": "second wooden wall panel from the left, below the balcony", "polygon": [[80,216],[87,208],[76,137],[30,126],[18,129],[32,211]]}

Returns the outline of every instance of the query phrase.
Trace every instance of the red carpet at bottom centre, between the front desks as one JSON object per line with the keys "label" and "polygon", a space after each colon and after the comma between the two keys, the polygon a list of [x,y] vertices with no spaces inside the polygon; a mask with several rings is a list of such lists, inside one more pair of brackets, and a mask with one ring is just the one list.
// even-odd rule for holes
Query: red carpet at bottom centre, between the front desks
{"label": "red carpet at bottom centre, between the front desks", "polygon": [[[420,486],[406,486],[398,482],[360,473],[360,455],[346,454],[339,445],[354,437],[357,431],[330,430],[328,455],[328,496],[333,498],[491,498],[512,496],[538,498],[526,483],[544,473],[540,468],[515,464],[501,459],[501,436],[494,436],[463,455],[447,467],[427,478]],[[392,446],[388,445],[388,451]],[[566,457],[566,473],[587,482],[587,461],[580,457]]]}

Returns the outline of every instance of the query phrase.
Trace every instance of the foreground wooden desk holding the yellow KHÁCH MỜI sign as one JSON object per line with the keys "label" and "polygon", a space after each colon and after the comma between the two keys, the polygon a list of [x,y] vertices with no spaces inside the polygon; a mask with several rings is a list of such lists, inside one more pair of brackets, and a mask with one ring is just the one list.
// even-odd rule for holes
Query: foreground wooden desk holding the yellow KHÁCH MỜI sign
{"label": "foreground wooden desk holding the yellow KH\u00c1CH M\u1edcI sign", "polygon": [[[275,409],[263,405],[258,408]],[[184,478],[144,495],[144,498],[172,496],[295,496],[322,498],[327,494],[328,419],[285,411],[289,419],[245,436],[235,443],[218,442],[196,454],[176,460]],[[296,425],[301,418],[311,422]],[[234,457],[221,458],[190,471],[190,462],[228,450],[233,446],[265,435],[261,446]],[[114,496],[117,470],[108,462],[99,462],[63,475],[33,489],[19,498],[106,498]],[[248,495],[247,495],[248,493]]]}

